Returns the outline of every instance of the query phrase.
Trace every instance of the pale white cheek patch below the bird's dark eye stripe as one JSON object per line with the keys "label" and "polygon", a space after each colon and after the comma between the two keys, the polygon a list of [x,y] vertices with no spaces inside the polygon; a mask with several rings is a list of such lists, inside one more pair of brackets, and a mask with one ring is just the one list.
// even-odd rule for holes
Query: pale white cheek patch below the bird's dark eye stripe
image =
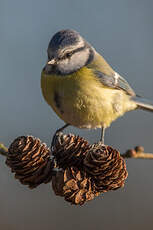
{"label": "pale white cheek patch below the bird's dark eye stripe", "polygon": [[70,59],[67,58],[61,61],[58,65],[58,68],[61,72],[68,74],[83,67],[86,64],[88,57],[89,50],[74,53]]}

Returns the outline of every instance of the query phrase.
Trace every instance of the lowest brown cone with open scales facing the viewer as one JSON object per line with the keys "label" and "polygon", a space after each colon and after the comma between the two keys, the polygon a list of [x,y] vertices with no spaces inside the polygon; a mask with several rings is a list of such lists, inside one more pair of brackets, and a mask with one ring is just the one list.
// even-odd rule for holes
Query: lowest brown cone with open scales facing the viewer
{"label": "lowest brown cone with open scales facing the viewer", "polygon": [[57,172],[53,176],[52,186],[56,195],[64,196],[66,201],[75,205],[83,205],[99,195],[95,192],[92,178],[76,167]]}

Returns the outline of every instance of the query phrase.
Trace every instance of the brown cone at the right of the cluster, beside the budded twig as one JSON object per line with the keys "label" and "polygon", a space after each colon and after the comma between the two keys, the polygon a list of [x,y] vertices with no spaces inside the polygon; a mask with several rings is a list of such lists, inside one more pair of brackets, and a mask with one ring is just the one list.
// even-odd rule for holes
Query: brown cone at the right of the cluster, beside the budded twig
{"label": "brown cone at the right of the cluster, beside the budded twig", "polygon": [[84,170],[92,176],[98,192],[124,186],[128,176],[125,160],[110,146],[95,144],[84,159]]}

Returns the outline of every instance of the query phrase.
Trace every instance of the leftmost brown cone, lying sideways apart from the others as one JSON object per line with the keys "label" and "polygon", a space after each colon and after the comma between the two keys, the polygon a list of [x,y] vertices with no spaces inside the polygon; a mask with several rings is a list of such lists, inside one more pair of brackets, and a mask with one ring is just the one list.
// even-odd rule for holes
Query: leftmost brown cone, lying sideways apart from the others
{"label": "leftmost brown cone, lying sideways apart from the others", "polygon": [[6,164],[15,173],[15,178],[30,188],[48,183],[54,167],[50,150],[38,138],[32,136],[21,136],[12,142]]}

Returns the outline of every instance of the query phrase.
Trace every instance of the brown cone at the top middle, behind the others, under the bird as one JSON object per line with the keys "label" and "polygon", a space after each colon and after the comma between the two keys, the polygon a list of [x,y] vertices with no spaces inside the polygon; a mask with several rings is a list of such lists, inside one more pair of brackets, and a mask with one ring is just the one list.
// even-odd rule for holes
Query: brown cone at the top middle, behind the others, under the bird
{"label": "brown cone at the top middle, behind the others, under the bird", "polygon": [[65,169],[69,166],[80,168],[89,149],[90,145],[84,138],[59,133],[55,139],[53,155],[59,168]]}

